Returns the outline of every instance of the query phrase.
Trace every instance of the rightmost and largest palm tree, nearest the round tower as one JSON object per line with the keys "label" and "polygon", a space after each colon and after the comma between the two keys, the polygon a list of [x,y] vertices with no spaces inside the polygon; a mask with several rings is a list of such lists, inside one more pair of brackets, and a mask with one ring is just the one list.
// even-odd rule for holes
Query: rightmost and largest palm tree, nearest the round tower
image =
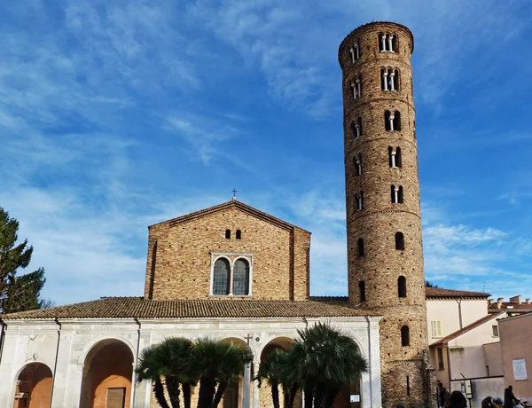
{"label": "rightmost and largest palm tree, nearest the round tower", "polygon": [[298,331],[290,350],[293,367],[305,391],[305,407],[332,408],[340,389],[367,372],[367,362],[348,335],[317,323]]}

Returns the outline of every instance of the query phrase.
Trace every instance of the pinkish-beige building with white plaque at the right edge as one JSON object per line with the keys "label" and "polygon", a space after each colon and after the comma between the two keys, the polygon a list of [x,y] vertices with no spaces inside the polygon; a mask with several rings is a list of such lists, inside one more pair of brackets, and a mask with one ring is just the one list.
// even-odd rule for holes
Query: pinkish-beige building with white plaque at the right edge
{"label": "pinkish-beige building with white plaque at the right edge", "polygon": [[520,400],[532,401],[532,313],[499,320],[506,386]]}

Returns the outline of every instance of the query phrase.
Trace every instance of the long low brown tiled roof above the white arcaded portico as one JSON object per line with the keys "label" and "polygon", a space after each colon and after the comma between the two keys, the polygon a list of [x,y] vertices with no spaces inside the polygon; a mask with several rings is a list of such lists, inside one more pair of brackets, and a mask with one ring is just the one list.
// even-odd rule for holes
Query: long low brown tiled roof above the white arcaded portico
{"label": "long low brown tiled roof above the white arcaded portico", "polygon": [[106,297],[55,308],[11,313],[4,321],[32,318],[351,318],[379,316],[347,302],[261,300],[152,300]]}

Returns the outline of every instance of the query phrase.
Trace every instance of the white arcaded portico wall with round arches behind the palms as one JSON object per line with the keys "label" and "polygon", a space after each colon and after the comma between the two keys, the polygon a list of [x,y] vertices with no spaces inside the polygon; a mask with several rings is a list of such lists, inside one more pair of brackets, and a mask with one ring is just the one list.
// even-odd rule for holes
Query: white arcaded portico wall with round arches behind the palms
{"label": "white arcaded portico wall with round arches behind the palms", "polygon": [[[137,357],[146,347],[168,336],[237,338],[249,342],[254,363],[260,362],[262,349],[273,339],[297,337],[297,330],[319,319],[43,319],[9,320],[4,334],[4,352],[0,361],[0,406],[12,408],[15,383],[22,368],[33,362],[48,365],[54,375],[51,408],[77,408],[82,387],[85,357],[99,341],[117,339]],[[332,326],[348,333],[370,365],[361,384],[364,407],[381,406],[379,318],[327,318]],[[130,408],[150,406],[150,384],[137,383]],[[255,388],[255,395],[260,390]],[[258,397],[254,408],[258,408]]]}

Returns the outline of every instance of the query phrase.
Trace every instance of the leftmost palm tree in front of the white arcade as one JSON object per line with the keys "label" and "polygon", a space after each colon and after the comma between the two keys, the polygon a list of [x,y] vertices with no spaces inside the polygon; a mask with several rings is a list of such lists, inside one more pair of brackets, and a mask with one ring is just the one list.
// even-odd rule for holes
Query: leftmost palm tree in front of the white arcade
{"label": "leftmost palm tree in front of the white arcade", "polygon": [[169,408],[162,385],[164,378],[172,408],[180,406],[180,388],[183,388],[184,407],[190,408],[191,386],[198,375],[192,364],[193,349],[192,341],[171,337],[143,352],[136,368],[137,379],[154,382],[153,391],[161,407]]}

